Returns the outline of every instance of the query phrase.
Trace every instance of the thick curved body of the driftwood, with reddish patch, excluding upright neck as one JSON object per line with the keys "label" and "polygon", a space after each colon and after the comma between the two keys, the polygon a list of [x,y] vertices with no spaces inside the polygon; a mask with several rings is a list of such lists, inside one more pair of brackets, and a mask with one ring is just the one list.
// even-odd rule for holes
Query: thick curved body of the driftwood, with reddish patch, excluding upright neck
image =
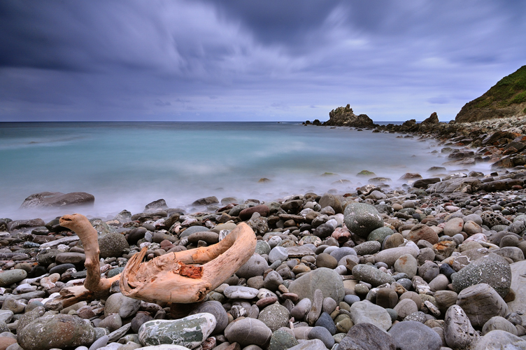
{"label": "thick curved body of the driftwood, with reddish patch, excluding upright neck", "polygon": [[130,258],[122,272],[120,290],[148,302],[199,302],[247,262],[255,246],[254,231],[240,223],[212,246],[169,253],[141,263],[146,253],[143,248]]}

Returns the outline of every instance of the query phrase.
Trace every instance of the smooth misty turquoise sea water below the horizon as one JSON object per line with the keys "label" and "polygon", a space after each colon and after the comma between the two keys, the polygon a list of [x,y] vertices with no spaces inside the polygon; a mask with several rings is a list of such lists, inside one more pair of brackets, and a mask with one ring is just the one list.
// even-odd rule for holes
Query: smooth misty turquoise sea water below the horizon
{"label": "smooth misty turquoise sea water below the horizon", "polygon": [[44,191],[91,193],[95,205],[83,214],[105,218],[159,198],[192,211],[212,195],[353,192],[367,183],[356,176],[364,169],[396,185],[447,160],[432,153],[441,149],[432,139],[397,136],[299,123],[0,123],[0,217],[66,214],[18,209]]}

